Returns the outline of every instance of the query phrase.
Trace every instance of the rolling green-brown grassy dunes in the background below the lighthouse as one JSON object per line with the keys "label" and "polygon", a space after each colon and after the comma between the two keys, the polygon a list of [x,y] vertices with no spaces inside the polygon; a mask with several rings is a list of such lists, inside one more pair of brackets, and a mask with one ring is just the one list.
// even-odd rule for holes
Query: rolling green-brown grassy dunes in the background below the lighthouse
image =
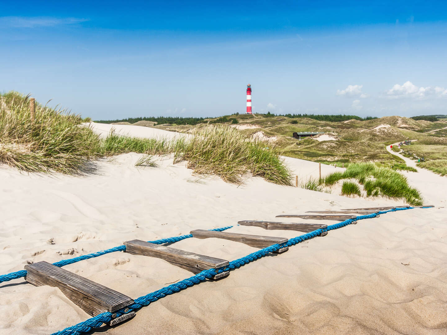
{"label": "rolling green-brown grassy dunes in the background below the lighthouse", "polygon": [[[347,119],[348,117],[352,118]],[[160,121],[164,120],[160,119]],[[271,144],[278,147],[283,155],[325,164],[337,164],[337,166],[358,162],[375,162],[378,166],[406,169],[405,162],[399,157],[389,154],[385,146],[407,139],[417,139],[418,141],[413,142],[411,147],[405,148],[405,151],[413,150],[418,156],[424,156],[426,162],[421,163],[422,167],[447,174],[447,168],[442,168],[443,163],[447,163],[447,128],[443,129],[447,127],[447,120],[432,122],[399,116],[363,119],[346,115],[328,117],[299,115],[293,117],[293,115],[233,114],[216,118],[194,118],[194,120],[187,121],[195,121],[199,127],[207,126],[203,122],[223,123],[238,128],[246,136],[261,134],[262,137],[270,139]],[[191,125],[186,124],[187,121],[181,119],[177,120],[177,124],[161,125],[159,123],[154,127],[188,132]],[[333,139],[318,141],[305,138],[297,140],[292,137],[294,132],[308,131],[325,132]]]}

